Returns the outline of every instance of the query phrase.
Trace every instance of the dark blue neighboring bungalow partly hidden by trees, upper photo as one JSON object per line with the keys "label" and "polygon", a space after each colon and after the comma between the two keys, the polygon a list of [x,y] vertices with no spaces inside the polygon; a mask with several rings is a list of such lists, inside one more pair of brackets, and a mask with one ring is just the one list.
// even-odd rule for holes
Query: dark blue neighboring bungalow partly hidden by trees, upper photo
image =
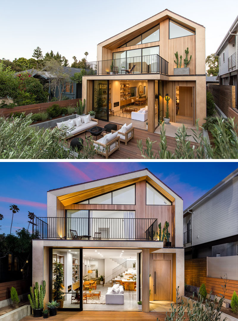
{"label": "dark blue neighboring bungalow partly hidden by trees, upper photo", "polygon": [[[71,67],[66,67],[62,66],[64,69],[64,72],[69,75],[69,78],[72,77],[75,73],[80,73],[82,70],[81,68],[71,68]],[[41,80],[41,82],[45,84],[49,84],[50,80],[52,79],[52,75],[48,73],[40,73],[35,69],[28,69],[24,70],[24,72],[27,71],[28,73],[32,74],[32,77],[37,78]],[[16,73],[16,74],[19,74]],[[61,91],[62,88],[60,88]],[[50,93],[50,88],[49,88],[49,93]],[[55,92],[55,97],[58,98],[59,96],[59,91],[58,88],[56,88]],[[68,99],[77,99],[77,98],[82,98],[82,83],[76,83],[75,81],[70,81],[65,83],[64,91],[62,92],[62,97],[68,97]],[[51,98],[53,95],[51,95]]]}

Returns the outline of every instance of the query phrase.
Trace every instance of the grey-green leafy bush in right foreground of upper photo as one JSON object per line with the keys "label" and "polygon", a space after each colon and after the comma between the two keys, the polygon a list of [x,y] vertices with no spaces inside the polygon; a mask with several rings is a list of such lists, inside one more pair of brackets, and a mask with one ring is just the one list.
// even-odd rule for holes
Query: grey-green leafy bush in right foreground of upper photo
{"label": "grey-green leafy bush in right foreground of upper photo", "polygon": [[[230,134],[226,134],[228,128]],[[142,140],[137,141],[137,146],[141,151],[141,155],[145,159],[237,159],[238,158],[238,137],[236,131],[237,126],[234,124],[234,118],[227,121],[217,117],[217,125],[214,125],[212,134],[214,137],[215,147],[212,147],[207,138],[203,137],[199,132],[199,126],[196,121],[196,131],[193,131],[193,139],[196,142],[188,140],[191,135],[187,134],[184,125],[177,129],[175,152],[168,151],[166,130],[164,123],[160,128],[160,142],[158,147],[158,155],[154,153],[152,147],[156,142],[146,139],[146,148],[143,150]]]}

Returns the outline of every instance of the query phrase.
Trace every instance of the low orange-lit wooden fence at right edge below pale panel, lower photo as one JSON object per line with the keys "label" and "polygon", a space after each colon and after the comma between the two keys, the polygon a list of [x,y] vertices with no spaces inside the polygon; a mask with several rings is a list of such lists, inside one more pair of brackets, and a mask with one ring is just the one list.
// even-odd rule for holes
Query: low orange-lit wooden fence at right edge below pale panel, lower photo
{"label": "low orange-lit wooden fence at right edge below pale panel, lower photo", "polygon": [[[213,295],[221,297],[224,293],[222,288],[224,284],[225,283],[221,278],[206,278],[206,290],[208,293],[212,292]],[[236,293],[238,292],[238,281],[227,280],[225,298],[231,300],[234,291]]]}

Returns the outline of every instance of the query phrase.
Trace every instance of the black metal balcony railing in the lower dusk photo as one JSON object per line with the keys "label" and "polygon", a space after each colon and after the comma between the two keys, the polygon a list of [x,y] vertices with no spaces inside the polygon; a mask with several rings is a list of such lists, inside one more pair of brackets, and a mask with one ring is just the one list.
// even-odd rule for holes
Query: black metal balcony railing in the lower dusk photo
{"label": "black metal balcony railing in the lower dusk photo", "polygon": [[[156,240],[157,219],[39,217],[39,239]],[[152,234],[149,234],[150,233]]]}

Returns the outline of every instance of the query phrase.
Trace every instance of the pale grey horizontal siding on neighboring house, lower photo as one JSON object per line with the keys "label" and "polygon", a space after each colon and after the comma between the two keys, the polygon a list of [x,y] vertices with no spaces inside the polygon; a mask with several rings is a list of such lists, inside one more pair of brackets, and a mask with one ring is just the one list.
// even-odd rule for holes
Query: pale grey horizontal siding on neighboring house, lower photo
{"label": "pale grey horizontal siding on neighboring house, lower photo", "polygon": [[193,208],[193,246],[237,235],[237,195],[236,177]]}

